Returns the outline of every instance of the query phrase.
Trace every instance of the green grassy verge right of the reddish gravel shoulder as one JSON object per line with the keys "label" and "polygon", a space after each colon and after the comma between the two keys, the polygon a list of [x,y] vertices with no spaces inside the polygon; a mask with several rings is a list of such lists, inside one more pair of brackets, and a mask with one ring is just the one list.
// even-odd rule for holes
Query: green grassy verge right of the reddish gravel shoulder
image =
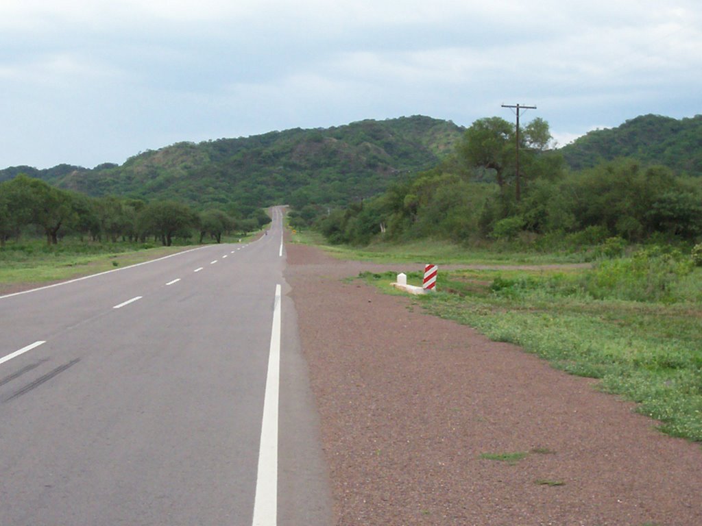
{"label": "green grassy verge right of the reddish gravel shoulder", "polygon": [[[439,264],[439,292],[416,299],[426,311],[522,346],[573,375],[600,379],[601,389],[663,422],[661,431],[702,441],[702,267],[689,255],[647,248],[585,268],[442,271],[449,263],[519,266],[577,257],[436,243],[324,248],[347,259]],[[390,292],[395,274],[362,277]],[[420,285],[419,272],[408,278]]]}

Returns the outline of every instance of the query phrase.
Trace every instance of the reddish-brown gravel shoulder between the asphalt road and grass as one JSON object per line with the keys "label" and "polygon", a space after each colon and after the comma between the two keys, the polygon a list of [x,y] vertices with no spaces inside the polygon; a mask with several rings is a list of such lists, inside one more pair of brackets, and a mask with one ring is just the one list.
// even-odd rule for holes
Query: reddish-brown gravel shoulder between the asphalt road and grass
{"label": "reddish-brown gravel shoulder between the asphalt road and grass", "polygon": [[286,252],[337,525],[702,525],[699,444],[591,379],[343,279],[418,269]]}

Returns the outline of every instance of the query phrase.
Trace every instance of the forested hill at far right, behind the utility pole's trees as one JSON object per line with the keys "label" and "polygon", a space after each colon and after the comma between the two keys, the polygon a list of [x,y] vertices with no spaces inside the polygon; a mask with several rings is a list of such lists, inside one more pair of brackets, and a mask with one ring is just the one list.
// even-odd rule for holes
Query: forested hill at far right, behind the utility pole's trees
{"label": "forested hill at far right, behind the utility pole's trees", "polygon": [[702,176],[702,115],[680,120],[639,116],[617,128],[591,131],[560,151],[573,170],[630,157],[668,166],[680,175]]}

